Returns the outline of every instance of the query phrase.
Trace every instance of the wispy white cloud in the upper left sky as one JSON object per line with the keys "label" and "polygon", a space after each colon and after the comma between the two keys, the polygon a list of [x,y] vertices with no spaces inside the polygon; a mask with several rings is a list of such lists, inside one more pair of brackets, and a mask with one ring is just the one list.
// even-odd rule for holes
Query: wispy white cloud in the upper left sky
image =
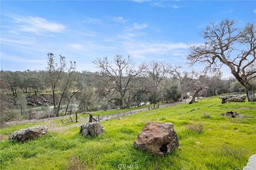
{"label": "wispy white cloud in the upper left sky", "polygon": [[14,19],[14,22],[17,23],[16,26],[18,27],[18,29],[21,31],[34,32],[34,33],[36,32],[60,33],[66,29],[66,27],[60,23],[50,22],[40,17],[15,16],[12,18]]}

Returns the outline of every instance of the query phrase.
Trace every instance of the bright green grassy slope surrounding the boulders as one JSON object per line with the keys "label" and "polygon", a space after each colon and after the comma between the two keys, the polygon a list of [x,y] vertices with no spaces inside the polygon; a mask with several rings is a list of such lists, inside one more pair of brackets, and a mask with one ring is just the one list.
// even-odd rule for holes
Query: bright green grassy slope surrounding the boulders
{"label": "bright green grassy slope surrounding the boulders", "polygon": [[[245,117],[220,115],[227,111]],[[2,139],[0,169],[235,170],[246,166],[250,155],[256,154],[256,102],[221,104],[215,96],[191,105],[124,117],[100,122],[105,133],[94,138],[82,137],[80,127],[71,127],[61,131],[51,128],[45,137],[26,143]],[[181,150],[165,156],[135,150],[133,141],[146,121],[173,123]],[[32,125],[35,124],[6,127],[0,133],[6,138],[13,131]],[[202,133],[188,129],[188,125],[201,125]]]}

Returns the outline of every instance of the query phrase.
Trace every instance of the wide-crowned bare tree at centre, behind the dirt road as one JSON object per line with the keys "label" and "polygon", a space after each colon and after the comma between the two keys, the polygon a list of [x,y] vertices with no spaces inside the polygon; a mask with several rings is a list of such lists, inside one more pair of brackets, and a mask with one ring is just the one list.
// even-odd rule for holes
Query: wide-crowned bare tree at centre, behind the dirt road
{"label": "wide-crowned bare tree at centre, behind the dirt road", "polygon": [[132,62],[130,56],[128,59],[123,59],[122,55],[116,55],[114,63],[109,63],[108,58],[97,58],[93,63],[100,68],[100,75],[102,78],[108,78],[109,81],[106,84],[106,90],[108,93],[117,92],[120,98],[112,98],[112,100],[120,101],[120,107],[125,108],[125,95],[130,90],[130,84],[134,78],[141,76],[145,69],[143,63],[136,69],[135,63]]}

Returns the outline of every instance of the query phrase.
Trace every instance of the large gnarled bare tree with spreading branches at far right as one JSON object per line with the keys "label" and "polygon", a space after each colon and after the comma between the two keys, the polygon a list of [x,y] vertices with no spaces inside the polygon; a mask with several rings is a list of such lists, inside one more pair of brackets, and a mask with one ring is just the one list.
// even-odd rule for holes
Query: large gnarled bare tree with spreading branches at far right
{"label": "large gnarled bare tree with spreading branches at far right", "polygon": [[256,31],[254,24],[248,23],[243,29],[235,27],[237,21],[228,19],[218,25],[211,23],[200,33],[204,45],[191,46],[190,64],[204,63],[208,70],[219,70],[223,65],[230,68],[233,76],[246,89],[249,102],[256,101]]}

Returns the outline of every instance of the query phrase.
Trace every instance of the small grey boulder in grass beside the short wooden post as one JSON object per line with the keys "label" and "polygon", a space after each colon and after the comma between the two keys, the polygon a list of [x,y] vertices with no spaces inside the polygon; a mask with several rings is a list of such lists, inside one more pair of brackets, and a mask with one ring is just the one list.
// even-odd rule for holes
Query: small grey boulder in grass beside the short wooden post
{"label": "small grey boulder in grass beside the short wooden post", "polygon": [[103,126],[98,122],[85,123],[80,127],[80,134],[85,137],[95,137],[104,133]]}

